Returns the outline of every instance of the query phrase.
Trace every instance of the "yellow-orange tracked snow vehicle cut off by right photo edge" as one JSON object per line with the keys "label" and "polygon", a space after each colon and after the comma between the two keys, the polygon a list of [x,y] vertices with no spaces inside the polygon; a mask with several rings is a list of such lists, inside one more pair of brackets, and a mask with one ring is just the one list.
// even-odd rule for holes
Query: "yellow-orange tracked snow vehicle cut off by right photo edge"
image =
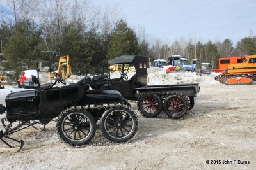
{"label": "yellow-orange tracked snow vehicle cut off by right photo edge", "polygon": [[251,85],[256,80],[256,55],[241,57],[243,62],[230,64],[218,80],[225,85]]}

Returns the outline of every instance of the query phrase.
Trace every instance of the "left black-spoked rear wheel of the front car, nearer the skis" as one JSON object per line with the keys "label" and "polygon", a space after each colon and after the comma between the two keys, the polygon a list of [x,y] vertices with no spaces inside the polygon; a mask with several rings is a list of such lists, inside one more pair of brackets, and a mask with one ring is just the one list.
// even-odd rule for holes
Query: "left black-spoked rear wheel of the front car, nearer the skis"
{"label": "left black-spoked rear wheel of the front car, nearer the skis", "polygon": [[65,143],[81,146],[95,135],[96,123],[88,111],[75,109],[61,113],[56,128]]}

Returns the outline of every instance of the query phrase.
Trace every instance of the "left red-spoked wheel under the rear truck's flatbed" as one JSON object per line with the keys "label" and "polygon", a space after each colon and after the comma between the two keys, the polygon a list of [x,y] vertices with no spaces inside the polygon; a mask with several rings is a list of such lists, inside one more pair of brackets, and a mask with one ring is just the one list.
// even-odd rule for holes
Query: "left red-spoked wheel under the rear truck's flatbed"
{"label": "left red-spoked wheel under the rear truck's flatbed", "polygon": [[162,108],[161,98],[156,94],[143,94],[138,98],[138,110],[145,117],[157,117]]}

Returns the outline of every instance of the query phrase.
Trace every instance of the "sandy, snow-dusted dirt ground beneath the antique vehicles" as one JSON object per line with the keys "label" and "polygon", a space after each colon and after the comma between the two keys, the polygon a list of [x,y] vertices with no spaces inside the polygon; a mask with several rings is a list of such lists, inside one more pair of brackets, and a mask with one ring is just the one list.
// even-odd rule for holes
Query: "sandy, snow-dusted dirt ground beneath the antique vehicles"
{"label": "sandy, snow-dusted dirt ground beneath the antique vehicles", "polygon": [[[18,132],[24,148],[0,153],[0,169],[256,169],[256,85],[200,86],[182,120],[144,118],[132,103],[140,129],[127,144],[72,148],[54,122],[43,132]],[[102,138],[97,131],[94,141]]]}

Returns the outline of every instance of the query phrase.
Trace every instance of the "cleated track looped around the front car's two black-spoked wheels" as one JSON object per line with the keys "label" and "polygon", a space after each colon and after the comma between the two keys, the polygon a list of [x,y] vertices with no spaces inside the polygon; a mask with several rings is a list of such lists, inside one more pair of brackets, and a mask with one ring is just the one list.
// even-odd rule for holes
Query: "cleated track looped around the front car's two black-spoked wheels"
{"label": "cleated track looped around the front car's two black-spoked wheels", "polygon": [[[128,102],[128,101],[127,101],[127,102]],[[129,105],[131,106],[131,104],[129,104]],[[107,109],[111,109],[111,108],[118,108],[118,107],[121,107],[121,106],[122,106],[123,108],[129,109],[129,111],[132,111],[132,112],[134,113],[134,116],[136,117],[136,122],[138,122],[138,117],[136,116],[135,111],[132,110],[132,108],[131,108],[130,106],[127,106],[126,104],[122,104],[122,103],[90,104],[90,105],[84,105],[84,106],[72,106],[72,107],[67,108],[66,110],[64,110],[64,111],[60,114],[60,116],[58,117],[58,120],[56,120],[56,121],[59,121],[60,118],[63,116],[63,114],[68,113],[68,111],[84,109],[84,110],[87,110],[87,111],[90,112],[90,110],[95,110],[95,109],[100,110],[100,109],[104,108],[104,110],[107,110]],[[61,136],[60,136],[59,133],[58,133],[58,126],[57,126],[57,125],[58,125],[58,124],[56,124],[56,132],[57,132],[59,138],[62,139]],[[137,134],[137,132],[138,132],[139,127],[140,127],[140,125],[139,125],[139,123],[138,123],[138,128],[137,128],[137,131],[135,132],[135,135],[132,136],[132,138],[129,139],[128,141],[126,141],[125,143],[129,143],[132,139],[135,138],[135,136],[136,136],[136,134]],[[97,126],[97,128],[98,128],[98,126]],[[78,145],[72,145],[72,144],[66,143],[66,142],[63,141],[63,140],[61,140],[61,141],[62,141],[63,143],[65,143],[66,145],[73,146],[73,147],[76,147],[76,148],[82,148],[82,147],[88,147],[88,146],[109,146],[109,145],[120,145],[120,144],[122,144],[122,143],[115,143],[115,142],[112,142],[112,141],[103,141],[103,140],[102,140],[102,141],[99,141],[99,142],[91,142],[91,141],[90,141],[90,143],[87,143],[87,144],[85,144],[85,145],[80,145],[80,146],[78,146]]]}

